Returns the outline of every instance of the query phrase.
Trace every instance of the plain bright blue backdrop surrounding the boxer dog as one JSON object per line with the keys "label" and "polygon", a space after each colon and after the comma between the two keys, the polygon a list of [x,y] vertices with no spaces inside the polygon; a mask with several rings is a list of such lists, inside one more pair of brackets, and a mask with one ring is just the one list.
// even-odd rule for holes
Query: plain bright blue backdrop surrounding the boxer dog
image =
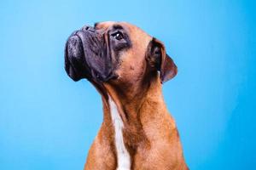
{"label": "plain bright blue backdrop surrounding the boxer dog", "polygon": [[100,95],[64,71],[75,29],[125,20],[165,42],[164,84],[190,169],[256,163],[256,4],[212,1],[1,1],[0,169],[83,169],[102,123]]}

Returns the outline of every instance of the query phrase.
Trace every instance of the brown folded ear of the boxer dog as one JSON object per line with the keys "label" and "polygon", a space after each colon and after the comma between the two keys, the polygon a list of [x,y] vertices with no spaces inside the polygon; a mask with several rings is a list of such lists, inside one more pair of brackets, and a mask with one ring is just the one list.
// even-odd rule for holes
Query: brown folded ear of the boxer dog
{"label": "brown folded ear of the boxer dog", "polygon": [[151,67],[160,71],[160,81],[167,82],[177,75],[177,66],[172,58],[166,54],[166,48],[162,42],[153,38],[148,44],[147,60]]}

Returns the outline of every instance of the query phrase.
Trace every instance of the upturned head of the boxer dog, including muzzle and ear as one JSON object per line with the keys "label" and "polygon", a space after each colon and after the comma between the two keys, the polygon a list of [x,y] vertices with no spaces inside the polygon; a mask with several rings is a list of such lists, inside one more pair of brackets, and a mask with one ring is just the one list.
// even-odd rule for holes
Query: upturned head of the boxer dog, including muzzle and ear
{"label": "upturned head of the boxer dog, including muzzle and ear", "polygon": [[160,71],[160,82],[177,74],[177,66],[165,46],[137,26],[125,22],[101,22],[84,26],[68,37],[65,69],[74,81],[132,85]]}

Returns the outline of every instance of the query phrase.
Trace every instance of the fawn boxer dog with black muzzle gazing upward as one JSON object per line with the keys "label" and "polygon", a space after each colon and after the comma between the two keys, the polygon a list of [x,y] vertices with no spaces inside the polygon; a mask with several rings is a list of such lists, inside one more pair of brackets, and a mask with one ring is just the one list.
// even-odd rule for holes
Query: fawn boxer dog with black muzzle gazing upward
{"label": "fawn boxer dog with black muzzle gazing upward", "polygon": [[85,170],[189,169],[162,95],[177,74],[162,42],[125,22],[84,26],[67,39],[65,69],[102,95],[102,127]]}

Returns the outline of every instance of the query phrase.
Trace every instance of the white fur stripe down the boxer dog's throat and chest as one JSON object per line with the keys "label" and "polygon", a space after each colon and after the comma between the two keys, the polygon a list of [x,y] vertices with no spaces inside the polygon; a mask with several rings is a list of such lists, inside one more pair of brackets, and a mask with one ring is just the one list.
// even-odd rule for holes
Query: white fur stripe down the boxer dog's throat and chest
{"label": "white fur stripe down the boxer dog's throat and chest", "polygon": [[117,159],[118,159],[117,170],[130,170],[131,168],[130,155],[128,151],[125,149],[123,132],[122,132],[124,124],[121,117],[119,116],[119,111],[117,110],[117,106],[113,102],[113,99],[110,96],[108,97],[109,97],[111,118],[112,118],[113,128],[114,128],[115,147],[116,147]]}

